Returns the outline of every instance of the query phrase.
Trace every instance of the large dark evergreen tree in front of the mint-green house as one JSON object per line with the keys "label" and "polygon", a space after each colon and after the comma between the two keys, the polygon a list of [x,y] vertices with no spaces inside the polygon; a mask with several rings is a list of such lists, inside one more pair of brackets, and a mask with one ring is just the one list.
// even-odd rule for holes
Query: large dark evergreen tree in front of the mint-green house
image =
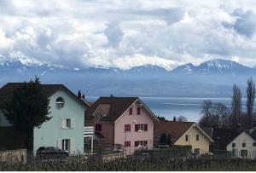
{"label": "large dark evergreen tree in front of the mint-green house", "polygon": [[24,82],[8,101],[3,109],[4,116],[16,130],[26,136],[27,150],[33,150],[33,130],[49,121],[49,99],[44,95],[39,78],[29,83]]}

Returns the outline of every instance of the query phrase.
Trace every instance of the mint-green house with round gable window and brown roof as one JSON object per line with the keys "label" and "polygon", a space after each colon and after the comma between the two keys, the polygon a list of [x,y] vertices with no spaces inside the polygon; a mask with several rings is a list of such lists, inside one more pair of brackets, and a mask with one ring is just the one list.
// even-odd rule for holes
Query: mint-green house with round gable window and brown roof
{"label": "mint-green house with round gable window and brown roof", "polygon": [[[9,83],[0,89],[0,110],[4,101],[18,89],[22,83]],[[44,94],[49,97],[48,122],[41,128],[34,128],[34,153],[38,147],[59,147],[70,153],[84,152],[84,110],[89,104],[79,99],[63,84],[41,84]],[[0,112],[0,126],[11,126],[3,112]]]}

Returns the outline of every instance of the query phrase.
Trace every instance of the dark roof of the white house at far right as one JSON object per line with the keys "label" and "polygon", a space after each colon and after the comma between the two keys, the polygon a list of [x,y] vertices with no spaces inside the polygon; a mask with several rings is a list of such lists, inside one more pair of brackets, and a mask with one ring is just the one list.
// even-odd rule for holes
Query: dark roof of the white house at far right
{"label": "dark roof of the white house at far right", "polygon": [[219,150],[225,150],[231,141],[241,134],[241,130],[227,128],[213,128],[212,139],[218,144]]}

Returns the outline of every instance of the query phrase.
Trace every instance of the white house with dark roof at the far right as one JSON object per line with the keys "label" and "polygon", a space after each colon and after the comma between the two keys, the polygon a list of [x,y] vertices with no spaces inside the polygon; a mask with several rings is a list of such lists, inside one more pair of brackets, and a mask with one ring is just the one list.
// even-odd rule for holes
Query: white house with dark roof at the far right
{"label": "white house with dark roof at the far right", "polygon": [[233,157],[256,158],[256,141],[244,130],[213,128],[212,138],[218,149],[230,151]]}

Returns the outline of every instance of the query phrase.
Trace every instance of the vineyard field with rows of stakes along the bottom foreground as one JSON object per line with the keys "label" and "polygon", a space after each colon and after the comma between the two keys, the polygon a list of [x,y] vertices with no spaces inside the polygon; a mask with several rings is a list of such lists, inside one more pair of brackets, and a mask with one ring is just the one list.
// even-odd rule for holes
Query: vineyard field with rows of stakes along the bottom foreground
{"label": "vineyard field with rows of stakes along the bottom foreground", "polygon": [[249,159],[142,159],[132,157],[103,162],[101,159],[72,159],[69,161],[55,160],[30,164],[0,164],[4,170],[256,170],[256,161]]}

